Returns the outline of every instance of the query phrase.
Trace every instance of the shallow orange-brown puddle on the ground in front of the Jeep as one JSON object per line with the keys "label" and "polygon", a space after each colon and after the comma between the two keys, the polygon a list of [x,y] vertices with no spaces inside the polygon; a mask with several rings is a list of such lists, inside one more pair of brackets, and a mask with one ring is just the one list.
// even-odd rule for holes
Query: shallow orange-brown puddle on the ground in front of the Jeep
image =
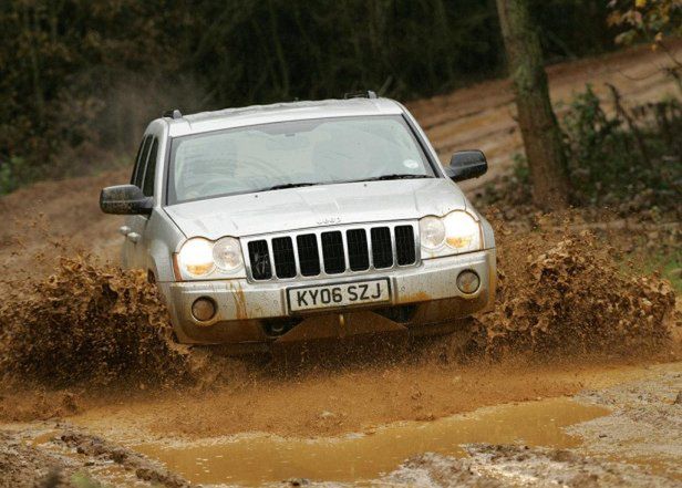
{"label": "shallow orange-brown puddle on the ground in front of the Jeep", "polygon": [[568,398],[483,408],[434,422],[411,422],[373,433],[331,438],[237,436],[210,444],[143,444],[135,450],[163,461],[198,484],[260,485],[290,478],[361,481],[389,473],[412,455],[463,456],[468,443],[572,447],[579,438],[562,430],[609,413]]}

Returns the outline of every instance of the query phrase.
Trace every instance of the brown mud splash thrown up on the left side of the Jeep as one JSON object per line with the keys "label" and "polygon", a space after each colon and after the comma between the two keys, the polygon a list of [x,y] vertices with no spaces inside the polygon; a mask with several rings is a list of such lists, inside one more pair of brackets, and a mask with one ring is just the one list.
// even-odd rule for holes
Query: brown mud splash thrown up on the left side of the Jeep
{"label": "brown mud splash thrown up on the left side of the Jeep", "polygon": [[60,259],[0,304],[0,372],[6,381],[184,383],[192,364],[172,340],[165,308],[137,272]]}

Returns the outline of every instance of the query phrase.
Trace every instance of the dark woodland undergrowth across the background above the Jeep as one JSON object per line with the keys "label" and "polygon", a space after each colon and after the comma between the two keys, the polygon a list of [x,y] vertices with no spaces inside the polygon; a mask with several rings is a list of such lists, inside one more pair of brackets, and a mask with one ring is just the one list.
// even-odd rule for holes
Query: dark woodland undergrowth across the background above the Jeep
{"label": "dark woodland undergrowth across the background above the Jeep", "polygon": [[[606,4],[531,4],[548,59],[611,48]],[[493,1],[6,0],[0,25],[0,162],[41,178],[82,173],[83,145],[134,150],[168,108],[412,98],[504,68]]]}

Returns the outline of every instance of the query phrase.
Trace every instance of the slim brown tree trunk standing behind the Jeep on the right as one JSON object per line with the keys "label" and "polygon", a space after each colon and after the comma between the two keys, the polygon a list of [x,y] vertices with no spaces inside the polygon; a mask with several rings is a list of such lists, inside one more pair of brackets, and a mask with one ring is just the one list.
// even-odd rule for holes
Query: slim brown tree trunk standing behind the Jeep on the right
{"label": "slim brown tree trunk standing behind the Jeep on the right", "polygon": [[551,110],[547,73],[528,0],[497,0],[499,23],[518,111],[518,125],[530,169],[533,199],[545,210],[568,205],[566,154]]}

